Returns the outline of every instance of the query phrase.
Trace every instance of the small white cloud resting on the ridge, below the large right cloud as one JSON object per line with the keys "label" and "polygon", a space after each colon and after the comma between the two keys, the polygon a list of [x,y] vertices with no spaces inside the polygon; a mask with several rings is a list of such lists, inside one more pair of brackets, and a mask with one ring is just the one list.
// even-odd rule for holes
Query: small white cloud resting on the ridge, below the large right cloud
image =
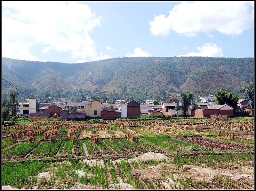
{"label": "small white cloud resting on the ridge, below the large right cloud", "polygon": [[221,47],[214,43],[206,42],[202,47],[197,47],[198,52],[189,52],[186,55],[179,56],[208,56],[208,57],[223,57]]}

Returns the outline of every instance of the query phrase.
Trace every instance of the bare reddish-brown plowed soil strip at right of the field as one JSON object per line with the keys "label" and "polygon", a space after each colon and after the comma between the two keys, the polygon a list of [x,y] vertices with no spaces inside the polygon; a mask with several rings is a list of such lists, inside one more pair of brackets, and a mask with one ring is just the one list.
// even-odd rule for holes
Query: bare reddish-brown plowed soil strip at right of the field
{"label": "bare reddish-brown plowed soil strip at right of the field", "polygon": [[206,148],[213,148],[213,150],[240,150],[252,149],[250,145],[218,141],[215,139],[209,139],[205,137],[193,136],[193,137],[175,137],[173,139],[180,140],[187,143],[194,143],[197,146],[204,146]]}

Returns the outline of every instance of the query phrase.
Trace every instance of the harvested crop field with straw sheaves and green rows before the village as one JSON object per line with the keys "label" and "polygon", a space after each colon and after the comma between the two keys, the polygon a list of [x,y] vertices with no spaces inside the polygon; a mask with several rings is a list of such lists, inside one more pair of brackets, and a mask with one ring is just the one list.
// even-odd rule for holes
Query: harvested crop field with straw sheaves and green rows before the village
{"label": "harvested crop field with straw sheaves and green rows before the village", "polygon": [[2,189],[254,189],[254,118],[7,124]]}

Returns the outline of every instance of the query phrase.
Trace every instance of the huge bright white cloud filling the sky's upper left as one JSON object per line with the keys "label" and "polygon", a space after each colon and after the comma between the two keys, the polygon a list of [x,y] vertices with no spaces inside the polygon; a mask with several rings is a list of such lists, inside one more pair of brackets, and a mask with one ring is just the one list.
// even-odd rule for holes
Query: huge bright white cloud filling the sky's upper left
{"label": "huge bright white cloud filling the sky's upper left", "polygon": [[2,56],[37,60],[29,48],[46,45],[43,53],[55,50],[70,53],[73,60],[96,60],[100,55],[89,33],[100,19],[77,2],[2,2]]}

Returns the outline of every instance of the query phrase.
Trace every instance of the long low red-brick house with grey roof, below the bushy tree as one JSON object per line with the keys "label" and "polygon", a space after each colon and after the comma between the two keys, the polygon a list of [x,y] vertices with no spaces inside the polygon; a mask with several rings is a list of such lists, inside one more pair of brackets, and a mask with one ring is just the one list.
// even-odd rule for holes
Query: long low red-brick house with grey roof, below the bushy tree
{"label": "long low red-brick house with grey roof, below the bushy tree", "polygon": [[234,115],[234,107],[229,106],[228,104],[224,105],[215,105],[209,107],[208,109],[192,109],[191,116],[201,116],[201,117],[210,117],[211,115]]}

